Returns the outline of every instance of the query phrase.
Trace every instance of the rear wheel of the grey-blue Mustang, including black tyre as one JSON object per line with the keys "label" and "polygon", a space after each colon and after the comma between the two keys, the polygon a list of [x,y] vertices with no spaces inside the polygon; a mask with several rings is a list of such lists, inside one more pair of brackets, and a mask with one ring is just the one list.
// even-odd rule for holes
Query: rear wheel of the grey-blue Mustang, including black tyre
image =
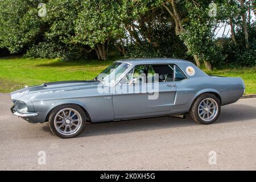
{"label": "rear wheel of the grey-blue Mustang, including black tyre", "polygon": [[190,116],[195,122],[209,125],[216,121],[220,115],[220,111],[220,100],[213,94],[205,93],[201,94],[193,102],[190,109]]}

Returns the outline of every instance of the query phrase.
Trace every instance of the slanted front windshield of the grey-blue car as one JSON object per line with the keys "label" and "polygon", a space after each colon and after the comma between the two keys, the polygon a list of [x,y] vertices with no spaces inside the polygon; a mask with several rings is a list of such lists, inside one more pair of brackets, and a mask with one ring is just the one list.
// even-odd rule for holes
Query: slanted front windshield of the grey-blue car
{"label": "slanted front windshield of the grey-blue car", "polygon": [[97,80],[105,81],[108,83],[114,83],[123,72],[129,68],[130,65],[127,63],[114,63],[100,73],[96,78]]}

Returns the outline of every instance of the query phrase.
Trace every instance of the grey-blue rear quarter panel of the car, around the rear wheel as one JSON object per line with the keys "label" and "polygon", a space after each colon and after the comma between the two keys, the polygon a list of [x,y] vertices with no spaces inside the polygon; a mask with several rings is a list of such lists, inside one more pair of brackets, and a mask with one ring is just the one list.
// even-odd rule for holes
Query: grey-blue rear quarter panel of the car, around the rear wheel
{"label": "grey-blue rear quarter panel of the car, around the rear wheel", "polygon": [[231,104],[241,98],[245,85],[241,78],[190,77],[176,82],[175,110],[189,111],[193,101],[202,93],[214,92],[221,98],[221,105]]}

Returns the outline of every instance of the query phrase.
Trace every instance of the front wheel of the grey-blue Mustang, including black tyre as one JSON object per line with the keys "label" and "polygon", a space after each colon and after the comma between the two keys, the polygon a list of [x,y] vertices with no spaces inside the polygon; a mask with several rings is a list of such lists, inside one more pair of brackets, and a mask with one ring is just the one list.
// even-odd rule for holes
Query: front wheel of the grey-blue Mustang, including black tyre
{"label": "front wheel of the grey-blue Mustang, including black tyre", "polygon": [[52,133],[60,138],[80,135],[85,129],[85,124],[85,113],[77,105],[61,105],[49,114],[49,127]]}

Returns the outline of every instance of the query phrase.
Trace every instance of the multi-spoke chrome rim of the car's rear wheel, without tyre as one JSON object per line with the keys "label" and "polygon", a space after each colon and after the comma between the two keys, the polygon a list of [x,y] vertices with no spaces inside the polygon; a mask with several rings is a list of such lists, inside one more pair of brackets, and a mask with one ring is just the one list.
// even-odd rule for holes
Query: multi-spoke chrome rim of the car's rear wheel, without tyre
{"label": "multi-spoke chrome rim of the car's rear wheel, without tyre", "polygon": [[198,114],[203,121],[212,121],[218,114],[218,104],[213,98],[205,98],[200,102]]}

